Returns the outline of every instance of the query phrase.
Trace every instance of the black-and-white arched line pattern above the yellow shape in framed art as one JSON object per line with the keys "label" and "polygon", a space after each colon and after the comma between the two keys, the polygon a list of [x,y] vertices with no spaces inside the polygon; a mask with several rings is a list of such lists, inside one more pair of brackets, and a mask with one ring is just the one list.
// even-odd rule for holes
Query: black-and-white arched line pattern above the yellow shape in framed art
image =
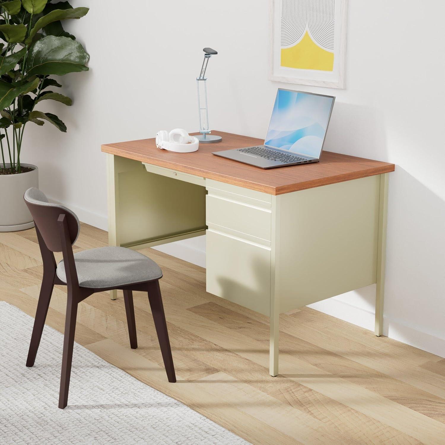
{"label": "black-and-white arched line pattern above the yellow shape in framed art", "polygon": [[307,31],[312,40],[334,51],[335,0],[282,0],[281,47],[297,44]]}

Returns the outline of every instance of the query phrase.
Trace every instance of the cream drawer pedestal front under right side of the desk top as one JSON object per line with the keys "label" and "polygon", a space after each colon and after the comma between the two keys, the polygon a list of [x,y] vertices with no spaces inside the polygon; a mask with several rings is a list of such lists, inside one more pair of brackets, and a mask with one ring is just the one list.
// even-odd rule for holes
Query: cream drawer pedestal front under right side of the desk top
{"label": "cream drawer pedestal front under right side of the desk top", "polygon": [[269,316],[271,197],[216,181],[206,188],[207,292]]}

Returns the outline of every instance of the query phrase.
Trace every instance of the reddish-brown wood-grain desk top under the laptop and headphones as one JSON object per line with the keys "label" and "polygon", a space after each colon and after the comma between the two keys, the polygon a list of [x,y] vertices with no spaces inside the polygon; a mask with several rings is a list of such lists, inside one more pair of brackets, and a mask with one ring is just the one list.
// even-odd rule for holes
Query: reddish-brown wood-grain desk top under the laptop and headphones
{"label": "reddish-brown wood-grain desk top under the laptop and headphones", "polygon": [[320,162],[314,164],[263,170],[212,154],[213,151],[262,145],[262,139],[221,131],[212,131],[212,134],[222,136],[223,140],[214,144],[199,144],[198,151],[193,153],[159,150],[154,138],[105,144],[102,151],[272,195],[394,171],[394,164],[388,162],[329,151],[324,151]]}

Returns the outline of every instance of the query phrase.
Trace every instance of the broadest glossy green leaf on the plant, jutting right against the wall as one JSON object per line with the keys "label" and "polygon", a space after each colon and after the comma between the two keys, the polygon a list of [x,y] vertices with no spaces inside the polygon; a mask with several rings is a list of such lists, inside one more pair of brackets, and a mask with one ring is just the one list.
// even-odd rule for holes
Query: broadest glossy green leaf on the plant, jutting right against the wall
{"label": "broadest glossy green leaf on the plant, jutting right against the wall", "polygon": [[26,64],[28,76],[88,71],[89,54],[69,37],[46,36],[32,44]]}

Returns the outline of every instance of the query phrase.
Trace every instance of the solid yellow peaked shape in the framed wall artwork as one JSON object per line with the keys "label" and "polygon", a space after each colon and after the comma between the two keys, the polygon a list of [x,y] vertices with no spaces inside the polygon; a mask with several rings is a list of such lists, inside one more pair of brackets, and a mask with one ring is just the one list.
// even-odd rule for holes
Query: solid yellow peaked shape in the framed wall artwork
{"label": "solid yellow peaked shape in the framed wall artwork", "polygon": [[281,49],[280,65],[288,68],[332,71],[334,69],[334,53],[320,48],[306,31],[306,34],[296,45]]}

